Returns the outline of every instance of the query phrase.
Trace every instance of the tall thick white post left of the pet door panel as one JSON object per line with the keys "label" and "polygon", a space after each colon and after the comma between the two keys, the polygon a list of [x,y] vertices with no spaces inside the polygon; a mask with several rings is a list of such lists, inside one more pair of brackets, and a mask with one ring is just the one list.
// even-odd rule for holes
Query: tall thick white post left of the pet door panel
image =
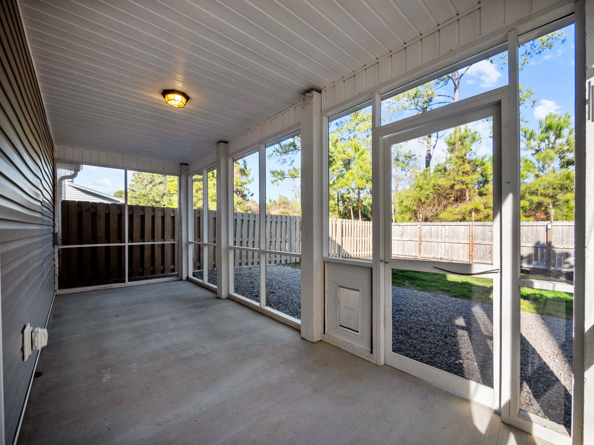
{"label": "tall thick white post left of the pet door panel", "polygon": [[301,116],[301,336],[316,342],[321,339],[324,307],[320,93],[305,96]]}

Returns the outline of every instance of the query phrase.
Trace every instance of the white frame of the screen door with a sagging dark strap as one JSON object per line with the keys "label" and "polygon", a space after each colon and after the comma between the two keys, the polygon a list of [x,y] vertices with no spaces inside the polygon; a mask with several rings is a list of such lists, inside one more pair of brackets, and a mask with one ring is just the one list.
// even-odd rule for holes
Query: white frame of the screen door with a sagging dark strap
{"label": "white frame of the screen door with a sagging dark strap", "polygon": [[464,379],[448,373],[447,371],[426,365],[411,358],[392,352],[392,311],[391,311],[391,269],[405,269],[424,271],[432,273],[446,273],[435,269],[441,267],[450,269],[456,273],[482,272],[491,269],[500,269],[500,211],[501,208],[501,100],[507,97],[507,87],[481,94],[466,100],[459,101],[438,109],[412,116],[407,119],[386,125],[374,132],[380,141],[383,155],[383,170],[381,171],[381,184],[384,190],[391,190],[391,145],[399,144],[410,139],[415,139],[437,131],[463,125],[475,120],[494,118],[493,129],[493,265],[450,263],[431,260],[394,259],[391,258],[391,215],[388,209],[391,208],[391,193],[384,193],[384,202],[381,210],[381,223],[383,224],[384,268],[385,285],[385,362],[413,376],[437,384],[445,389],[451,390],[470,400],[482,403],[489,408],[499,409],[500,400],[500,307],[501,307],[501,285],[499,272],[485,273],[481,276],[493,280],[493,387],[488,387],[472,380]]}

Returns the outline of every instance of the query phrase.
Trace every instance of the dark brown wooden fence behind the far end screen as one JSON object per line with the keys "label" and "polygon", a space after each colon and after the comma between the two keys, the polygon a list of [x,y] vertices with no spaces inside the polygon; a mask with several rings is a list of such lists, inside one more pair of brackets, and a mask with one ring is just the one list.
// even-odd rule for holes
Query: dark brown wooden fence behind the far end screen
{"label": "dark brown wooden fence behind the far end screen", "polygon": [[[124,205],[62,201],[61,245],[122,244]],[[178,209],[128,205],[128,242],[177,239]],[[70,247],[59,250],[59,287],[80,287],[125,281],[125,246]],[[128,280],[177,271],[177,244],[128,246]]]}

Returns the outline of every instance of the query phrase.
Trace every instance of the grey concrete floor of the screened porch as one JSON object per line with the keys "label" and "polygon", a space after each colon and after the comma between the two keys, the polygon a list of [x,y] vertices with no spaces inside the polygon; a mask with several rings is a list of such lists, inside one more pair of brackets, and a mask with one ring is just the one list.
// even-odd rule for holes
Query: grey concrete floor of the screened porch
{"label": "grey concrete floor of the screened porch", "polygon": [[19,444],[533,444],[187,281],[60,295]]}

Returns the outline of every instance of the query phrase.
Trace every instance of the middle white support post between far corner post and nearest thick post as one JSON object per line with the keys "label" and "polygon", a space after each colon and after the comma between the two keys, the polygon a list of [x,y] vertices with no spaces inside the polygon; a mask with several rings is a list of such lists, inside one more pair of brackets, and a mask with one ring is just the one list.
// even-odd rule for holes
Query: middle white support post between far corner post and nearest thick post
{"label": "middle white support post between far corner post and nearest thick post", "polygon": [[230,200],[229,176],[233,174],[233,164],[229,162],[229,144],[219,142],[217,146],[217,296],[229,297],[229,224],[232,213],[229,212]]}

